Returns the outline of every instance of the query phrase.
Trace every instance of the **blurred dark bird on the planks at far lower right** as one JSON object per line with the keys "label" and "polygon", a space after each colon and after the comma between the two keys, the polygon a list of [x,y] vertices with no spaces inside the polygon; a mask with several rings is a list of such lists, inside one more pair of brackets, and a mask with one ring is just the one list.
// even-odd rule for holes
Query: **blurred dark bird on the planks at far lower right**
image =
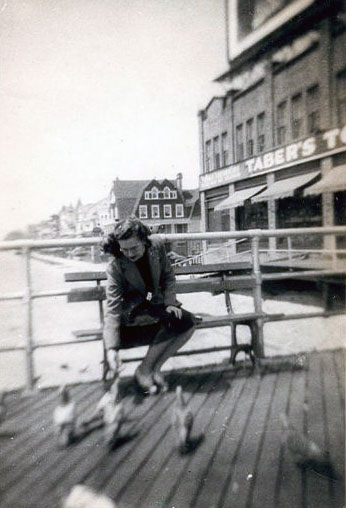
{"label": "blurred dark bird on the planks at far lower right", "polygon": [[304,436],[292,423],[287,415],[280,414],[280,420],[285,436],[285,443],[291,452],[295,463],[304,469],[311,469],[328,478],[339,479],[333,464],[330,462],[329,453],[323,451],[315,441]]}

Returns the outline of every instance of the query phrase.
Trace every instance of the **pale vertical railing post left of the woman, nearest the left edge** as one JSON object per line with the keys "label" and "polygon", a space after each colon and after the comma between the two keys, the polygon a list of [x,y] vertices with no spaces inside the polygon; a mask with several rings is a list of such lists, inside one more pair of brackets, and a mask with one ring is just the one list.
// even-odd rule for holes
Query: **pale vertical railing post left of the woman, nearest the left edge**
{"label": "pale vertical railing post left of the woman, nearest the left edge", "polygon": [[32,282],[31,282],[31,250],[30,247],[23,249],[25,260],[25,290],[23,304],[25,307],[25,364],[26,364],[26,390],[34,389],[34,361],[33,361],[33,334],[32,334]]}

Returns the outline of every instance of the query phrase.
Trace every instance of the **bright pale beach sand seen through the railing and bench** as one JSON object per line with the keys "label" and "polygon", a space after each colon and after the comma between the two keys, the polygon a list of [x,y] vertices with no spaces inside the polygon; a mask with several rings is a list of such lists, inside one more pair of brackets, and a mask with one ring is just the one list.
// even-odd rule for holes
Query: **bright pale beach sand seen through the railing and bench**
{"label": "bright pale beach sand seen through the railing and bench", "polygon": [[[0,293],[15,293],[24,289],[24,260],[12,253],[0,254],[2,266]],[[52,260],[54,261],[54,260]],[[103,270],[104,264],[83,261],[57,260],[46,262],[32,260],[34,291],[68,289],[64,273],[81,270]],[[76,284],[71,283],[71,287]],[[225,314],[224,296],[210,293],[179,295],[184,307],[195,313],[211,315]],[[235,312],[253,310],[253,299],[249,294],[233,294]],[[287,314],[313,312],[322,307],[317,293],[306,294],[289,291],[276,296],[264,295],[263,310]],[[24,345],[25,308],[20,301],[0,303],[0,345],[11,347]],[[81,328],[97,328],[98,308],[95,302],[67,303],[66,296],[40,298],[33,304],[33,335],[35,344],[64,342],[73,339],[72,331]],[[249,337],[247,327],[238,327],[240,341]],[[264,345],[266,356],[277,356],[312,350],[345,347],[346,316],[310,318],[266,323]],[[211,346],[228,346],[230,333],[227,327],[198,330],[184,347],[185,349]],[[138,356],[145,348],[121,352],[123,358]],[[219,363],[229,358],[229,352],[208,353],[175,357],[166,362],[164,368],[180,368]],[[80,343],[68,346],[38,348],[34,353],[37,387],[56,386],[63,383],[84,382],[100,379],[102,373],[102,346],[100,342]],[[22,351],[0,354],[0,389],[17,389],[25,384],[25,358]],[[136,363],[126,364],[122,375],[131,375]]]}

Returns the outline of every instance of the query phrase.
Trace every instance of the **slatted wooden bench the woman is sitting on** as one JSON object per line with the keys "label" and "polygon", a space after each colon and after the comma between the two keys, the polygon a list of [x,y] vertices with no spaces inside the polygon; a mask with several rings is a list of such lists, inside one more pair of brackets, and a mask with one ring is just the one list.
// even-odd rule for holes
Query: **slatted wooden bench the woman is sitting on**
{"label": "slatted wooden bench the woman is sitting on", "polygon": [[[261,356],[260,330],[264,321],[277,318],[278,314],[266,314],[264,312],[250,312],[246,314],[234,314],[230,292],[235,290],[252,289],[256,287],[256,279],[251,272],[251,264],[245,262],[219,263],[210,265],[192,265],[175,267],[176,275],[189,275],[193,278],[177,279],[177,294],[210,292],[212,294],[223,293],[227,314],[223,316],[204,317],[198,320],[197,329],[230,326],[231,328],[231,357],[230,362],[235,363],[239,352],[248,354],[252,363],[255,364],[256,356]],[[103,301],[106,299],[105,287],[102,281],[106,280],[104,271],[73,272],[65,274],[66,282],[94,282],[94,286],[72,288],[68,294],[68,302],[91,302],[99,304],[100,328],[76,330],[73,332],[78,339],[93,337],[102,338],[102,323],[104,319]],[[281,316],[282,314],[280,314]],[[251,340],[249,344],[239,344],[237,340],[237,326],[245,325],[250,329]]]}

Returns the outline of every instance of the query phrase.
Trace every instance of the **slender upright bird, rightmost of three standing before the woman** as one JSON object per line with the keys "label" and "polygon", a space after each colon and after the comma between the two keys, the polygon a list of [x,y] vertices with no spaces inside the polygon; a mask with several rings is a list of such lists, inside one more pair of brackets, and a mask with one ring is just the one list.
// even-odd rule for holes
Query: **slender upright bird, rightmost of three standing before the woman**
{"label": "slender upright bird, rightmost of three standing before the woman", "polygon": [[193,414],[184,400],[181,386],[177,386],[175,390],[172,425],[176,432],[178,449],[184,454],[189,450],[191,442]]}

